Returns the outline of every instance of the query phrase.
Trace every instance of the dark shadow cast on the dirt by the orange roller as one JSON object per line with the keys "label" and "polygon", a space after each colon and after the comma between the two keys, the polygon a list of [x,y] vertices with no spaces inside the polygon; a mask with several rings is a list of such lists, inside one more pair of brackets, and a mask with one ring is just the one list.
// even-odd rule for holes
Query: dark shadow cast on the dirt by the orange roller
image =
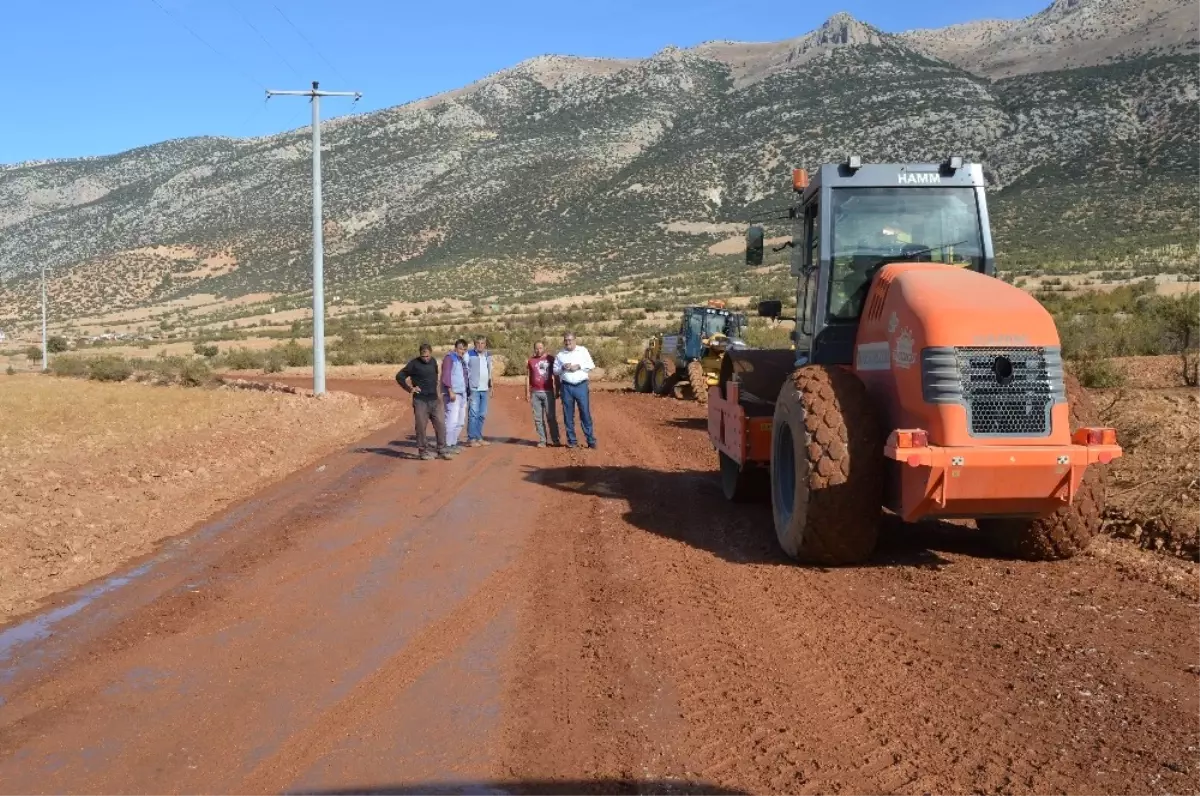
{"label": "dark shadow cast on the dirt by the orange roller", "polygon": [[[719,478],[709,471],[636,466],[526,468],[527,480],[553,490],[624,501],[630,525],[726,561],[797,565],[775,539],[769,498],[730,503]],[[940,553],[995,557],[973,527],[940,521],[910,525],[883,513],[878,546],[863,565],[940,569],[950,563]]]}

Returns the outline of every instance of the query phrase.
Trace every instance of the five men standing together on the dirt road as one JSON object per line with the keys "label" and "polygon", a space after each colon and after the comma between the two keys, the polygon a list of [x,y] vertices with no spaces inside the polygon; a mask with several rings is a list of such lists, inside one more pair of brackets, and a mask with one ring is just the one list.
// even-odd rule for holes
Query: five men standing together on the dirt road
{"label": "five men standing together on the dirt road", "polygon": [[[586,346],[575,341],[575,334],[563,335],[563,348],[557,354],[546,353],[542,341],[534,343],[533,355],[526,360],[524,395],[533,412],[538,447],[560,444],[558,432],[558,401],[563,402],[566,426],[566,447],[576,447],[575,413],[588,448],[596,447],[592,425],[592,405],[588,378],[595,369]],[[422,342],[418,357],[396,373],[396,383],[413,395],[413,419],[416,425],[416,448],[421,459],[452,459],[462,447],[458,435],[467,427],[463,447],[479,448],[491,444],[484,438],[487,403],[494,384],[494,364],[487,349],[487,337],[475,337],[475,346],[467,349],[467,341],[458,339],[454,349],[442,359],[440,367],[433,358],[433,347]],[[428,445],[428,425],[433,424],[437,453]],[[547,439],[548,437],[548,439]]]}

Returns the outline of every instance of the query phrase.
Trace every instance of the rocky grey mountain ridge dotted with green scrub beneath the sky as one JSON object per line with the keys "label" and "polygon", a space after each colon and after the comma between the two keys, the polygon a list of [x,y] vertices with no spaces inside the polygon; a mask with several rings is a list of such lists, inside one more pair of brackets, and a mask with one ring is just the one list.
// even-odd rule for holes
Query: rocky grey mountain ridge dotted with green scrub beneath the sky
{"label": "rocky grey mountain ridge dotted with green scrub beneath the sky", "polygon": [[[1186,52],[1145,53],[1136,40],[1133,55],[1106,64],[985,73],[1004,47],[1045,49],[1062,30],[1082,31],[1068,49],[1109,41],[1078,24],[1097,14],[1124,14],[1121,30],[1190,19],[1178,8],[1164,17],[1160,5],[1057,0],[1025,20],[938,36],[888,34],[839,13],[781,42],[538,56],[450,92],[341,116],[323,122],[326,273],[378,306],[396,292],[452,295],[451,271],[467,264],[496,271],[466,283],[481,297],[511,292],[546,264],[589,285],[661,263],[727,264],[709,255],[720,235],[694,231],[743,222],[786,201],[793,164],[850,152],[984,162],[997,241],[1016,265],[1110,251],[1128,259],[1186,243],[1200,204],[1200,56],[1189,49],[1200,36],[1189,38],[1190,23],[1171,40]],[[1038,19],[1050,34],[1034,41]],[[980,37],[998,60],[955,64],[964,41]],[[32,311],[29,276],[42,263],[64,280],[60,292],[71,287],[77,311],[200,291],[304,291],[310,158],[300,128],[0,168],[0,317]],[[1130,188],[1145,194],[1135,204],[1152,228],[1122,215],[1120,192]],[[1062,240],[1060,227],[1081,243]]]}

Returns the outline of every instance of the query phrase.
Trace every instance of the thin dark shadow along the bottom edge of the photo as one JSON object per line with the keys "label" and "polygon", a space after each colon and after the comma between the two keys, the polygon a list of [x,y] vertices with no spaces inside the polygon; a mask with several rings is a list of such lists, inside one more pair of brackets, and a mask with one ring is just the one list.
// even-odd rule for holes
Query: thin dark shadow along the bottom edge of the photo
{"label": "thin dark shadow along the bottom edge of the photo", "polygon": [[749,791],[718,785],[634,779],[498,782],[473,784],[397,785],[348,790],[288,790],[281,796],[569,796],[570,794],[682,794],[685,796],[750,796]]}

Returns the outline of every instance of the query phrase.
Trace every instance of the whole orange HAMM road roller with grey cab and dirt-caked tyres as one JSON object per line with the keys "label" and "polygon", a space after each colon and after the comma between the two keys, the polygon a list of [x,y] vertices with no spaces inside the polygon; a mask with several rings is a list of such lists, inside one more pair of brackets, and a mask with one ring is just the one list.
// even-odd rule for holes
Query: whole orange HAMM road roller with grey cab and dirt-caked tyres
{"label": "whole orange HAMM road roller with grey cab and dirt-caked tyres", "polygon": [[796,349],[730,352],[709,390],[726,496],[761,486],[780,546],[823,564],[869,557],[884,510],[1025,558],[1086,547],[1121,448],[1050,313],[995,276],[982,167],[852,157],[793,191]]}

